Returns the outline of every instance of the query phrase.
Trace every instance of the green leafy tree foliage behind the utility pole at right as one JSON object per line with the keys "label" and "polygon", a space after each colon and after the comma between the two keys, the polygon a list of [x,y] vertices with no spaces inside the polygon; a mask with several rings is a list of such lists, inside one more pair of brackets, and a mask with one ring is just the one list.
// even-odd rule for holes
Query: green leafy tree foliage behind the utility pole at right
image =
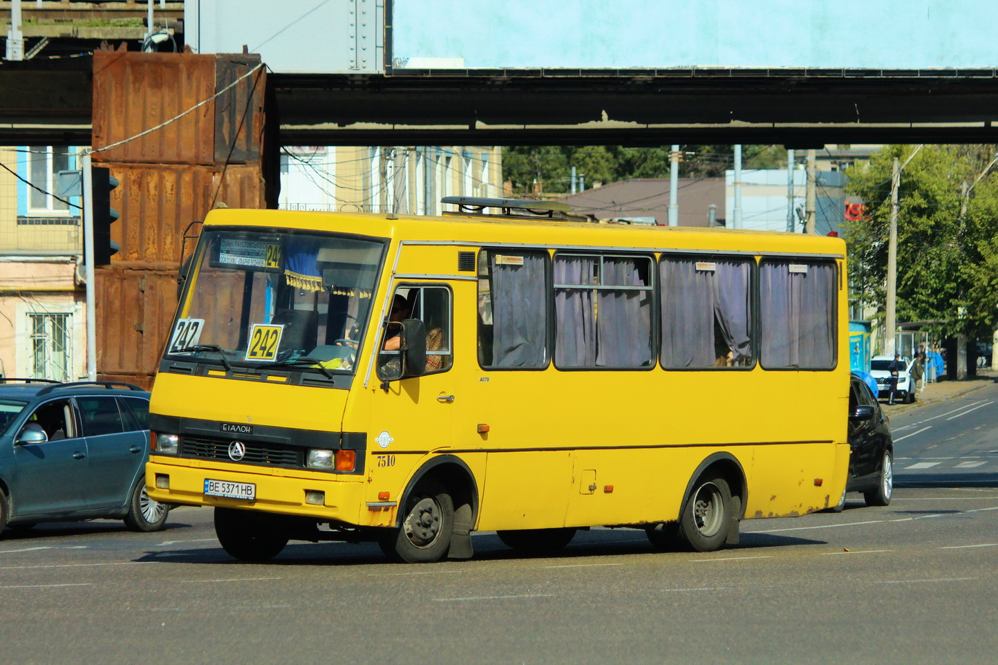
{"label": "green leafy tree foliage behind the utility pole at right", "polygon": [[[994,148],[925,146],[901,173],[897,321],[940,321],[936,333],[990,336],[996,324],[998,180],[989,172],[973,184]],[[849,278],[865,305],[882,308],[886,300],[892,160],[903,163],[913,150],[886,146],[846,171],[846,193],[866,202],[866,217],[847,223],[844,234]]]}

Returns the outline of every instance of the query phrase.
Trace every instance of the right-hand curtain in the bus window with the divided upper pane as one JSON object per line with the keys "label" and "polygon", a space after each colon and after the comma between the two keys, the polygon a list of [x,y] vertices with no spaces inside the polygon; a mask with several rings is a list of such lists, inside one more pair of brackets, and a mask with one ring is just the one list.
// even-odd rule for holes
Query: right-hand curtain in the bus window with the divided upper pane
{"label": "right-hand curtain in the bus window with the divided upper pane", "polygon": [[[647,260],[643,260],[647,261]],[[646,287],[634,259],[605,259],[603,286]],[[648,291],[598,293],[596,364],[640,367],[652,360],[652,297]]]}

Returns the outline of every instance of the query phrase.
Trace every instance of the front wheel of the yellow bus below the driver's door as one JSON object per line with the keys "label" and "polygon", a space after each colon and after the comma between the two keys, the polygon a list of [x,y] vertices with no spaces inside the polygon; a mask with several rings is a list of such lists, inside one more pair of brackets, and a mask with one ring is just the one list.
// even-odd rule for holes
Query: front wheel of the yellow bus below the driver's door
{"label": "front wheel of the yellow bus below the driver's door", "polygon": [[450,547],[454,530],[454,501],[435,480],[424,480],[405,501],[400,528],[390,529],[378,544],[394,561],[432,563]]}

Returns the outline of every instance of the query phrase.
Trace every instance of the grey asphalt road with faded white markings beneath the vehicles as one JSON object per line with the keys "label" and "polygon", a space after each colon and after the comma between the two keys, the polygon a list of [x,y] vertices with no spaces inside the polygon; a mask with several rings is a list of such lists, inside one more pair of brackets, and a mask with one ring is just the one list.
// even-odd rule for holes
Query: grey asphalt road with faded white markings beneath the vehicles
{"label": "grey asphalt road with faded white markings beneath the vehicles", "polygon": [[643,533],[597,529],[556,557],[524,557],[482,533],[470,561],[391,564],[372,545],[292,543],[252,565],[219,547],[207,508],[175,510],[160,533],[106,520],[5,532],[0,653],[9,663],[993,662],[998,419],[986,402],[996,396],[989,385],[891,417],[890,506],[850,494],[841,513],[750,520],[740,546],[709,554],[655,553]]}

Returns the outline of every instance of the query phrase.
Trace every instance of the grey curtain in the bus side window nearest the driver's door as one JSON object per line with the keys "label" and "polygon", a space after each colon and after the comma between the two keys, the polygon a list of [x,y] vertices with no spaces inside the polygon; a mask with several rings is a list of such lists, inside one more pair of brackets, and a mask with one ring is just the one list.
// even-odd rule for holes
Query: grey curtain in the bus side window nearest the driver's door
{"label": "grey curtain in the bus side window nearest the driver's door", "polygon": [[547,285],[545,258],[523,253],[523,265],[492,264],[492,365],[542,367],[547,364]]}

